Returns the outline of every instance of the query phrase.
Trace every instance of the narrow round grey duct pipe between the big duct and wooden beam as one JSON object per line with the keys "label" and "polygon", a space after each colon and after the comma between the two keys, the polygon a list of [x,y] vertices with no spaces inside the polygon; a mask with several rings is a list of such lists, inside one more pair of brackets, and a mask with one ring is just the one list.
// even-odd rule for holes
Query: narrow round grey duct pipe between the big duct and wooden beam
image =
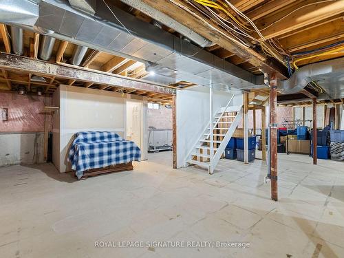
{"label": "narrow round grey duct pipe between the big duct and wooden beam", "polygon": [[147,14],[149,17],[152,17],[156,21],[159,21],[160,23],[175,30],[176,32],[182,34],[183,36],[186,36],[186,38],[195,42],[197,45],[200,45],[200,47],[210,47],[212,45],[215,45],[215,43],[208,41],[208,39],[204,38],[200,34],[194,32],[193,30],[190,30],[189,28],[182,25],[182,23],[175,21],[174,19],[167,16],[166,14],[163,14],[162,12],[155,10],[154,8],[147,5],[147,3],[144,3],[143,1],[140,1],[140,0],[120,0],[120,1],[122,1],[123,3],[127,3],[128,6],[131,6],[133,8],[136,8],[137,10],[140,10],[140,12]]}

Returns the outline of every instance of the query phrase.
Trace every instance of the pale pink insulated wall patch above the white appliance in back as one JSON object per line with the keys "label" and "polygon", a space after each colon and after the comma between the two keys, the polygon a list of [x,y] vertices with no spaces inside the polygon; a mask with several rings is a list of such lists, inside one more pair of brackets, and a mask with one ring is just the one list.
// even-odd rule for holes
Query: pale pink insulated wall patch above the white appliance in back
{"label": "pale pink insulated wall patch above the white appliance in back", "polygon": [[148,126],[156,129],[172,129],[172,109],[163,106],[159,109],[148,109]]}

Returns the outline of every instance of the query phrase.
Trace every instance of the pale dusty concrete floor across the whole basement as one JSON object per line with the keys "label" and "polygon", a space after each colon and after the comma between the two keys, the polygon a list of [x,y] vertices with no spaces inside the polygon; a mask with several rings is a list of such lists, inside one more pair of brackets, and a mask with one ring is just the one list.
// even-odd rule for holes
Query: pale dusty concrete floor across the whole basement
{"label": "pale dusty concrete floor across the whole basement", "polygon": [[[0,257],[344,257],[344,163],[311,162],[279,155],[279,202],[270,200],[259,160],[222,160],[208,175],[171,169],[164,152],[134,171],[81,181],[52,164],[2,167]],[[250,247],[99,248],[95,241]]]}

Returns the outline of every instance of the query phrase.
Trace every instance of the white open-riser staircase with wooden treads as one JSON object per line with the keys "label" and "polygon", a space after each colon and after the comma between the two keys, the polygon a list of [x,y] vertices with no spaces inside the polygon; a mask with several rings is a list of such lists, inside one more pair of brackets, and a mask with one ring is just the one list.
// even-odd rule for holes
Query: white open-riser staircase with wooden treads
{"label": "white open-riser staircase with wooden treads", "polygon": [[204,129],[202,136],[186,157],[186,163],[202,166],[208,169],[209,174],[213,174],[243,114],[242,106],[229,107],[231,100],[233,98],[213,116],[212,125],[210,126],[209,122]]}

